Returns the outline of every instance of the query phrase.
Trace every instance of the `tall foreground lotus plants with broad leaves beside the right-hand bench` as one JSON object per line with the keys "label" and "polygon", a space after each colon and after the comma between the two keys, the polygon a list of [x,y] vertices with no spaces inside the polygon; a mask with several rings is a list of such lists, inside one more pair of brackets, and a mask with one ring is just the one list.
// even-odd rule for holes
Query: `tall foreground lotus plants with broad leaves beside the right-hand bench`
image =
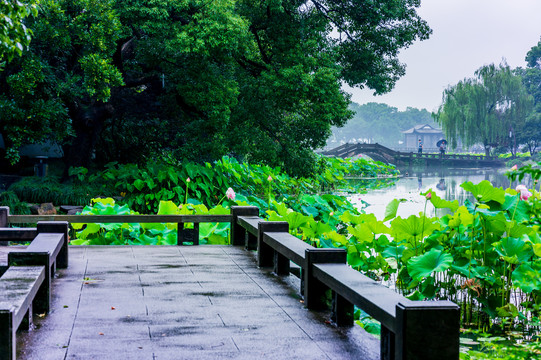
{"label": "tall foreground lotus plants with broad leaves beside the right-hand bench", "polygon": [[325,233],[320,245],[345,248],[352,267],[411,299],[455,301],[465,327],[505,326],[537,314],[539,193],[523,185],[503,190],[488,181],[461,186],[471,193],[462,206],[430,190],[424,194],[446,215],[396,217],[401,201],[395,200],[383,220],[342,214],[342,229]]}

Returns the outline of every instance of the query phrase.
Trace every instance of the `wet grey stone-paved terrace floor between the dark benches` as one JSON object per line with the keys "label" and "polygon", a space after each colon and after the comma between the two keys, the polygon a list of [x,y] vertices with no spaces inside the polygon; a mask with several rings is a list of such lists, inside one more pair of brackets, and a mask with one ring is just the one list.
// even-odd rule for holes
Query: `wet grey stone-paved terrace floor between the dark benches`
{"label": "wet grey stone-paved terrace floor between the dark benches", "polygon": [[70,247],[18,359],[377,359],[379,341],[304,308],[299,280],[232,246]]}

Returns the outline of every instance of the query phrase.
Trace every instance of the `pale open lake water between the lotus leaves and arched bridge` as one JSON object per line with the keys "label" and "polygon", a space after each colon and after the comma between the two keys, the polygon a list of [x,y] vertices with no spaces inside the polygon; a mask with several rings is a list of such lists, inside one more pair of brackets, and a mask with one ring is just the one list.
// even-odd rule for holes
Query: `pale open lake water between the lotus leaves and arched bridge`
{"label": "pale open lake water between the lotus leaves and arched bridge", "polygon": [[[432,189],[439,197],[446,200],[458,200],[460,205],[464,204],[464,200],[470,198],[470,193],[464,191],[460,184],[466,181],[471,181],[478,184],[483,180],[490,181],[494,186],[515,188],[518,182],[510,184],[509,179],[505,176],[507,169],[425,169],[425,171],[401,170],[402,177],[390,187],[369,190],[367,194],[355,194],[349,197],[349,200],[357,205],[358,208],[364,206],[363,201],[368,203],[364,211],[376,215],[378,220],[383,220],[385,217],[385,208],[393,199],[406,199],[406,202],[401,203],[398,207],[397,216],[408,217],[410,215],[418,215],[423,211],[425,206],[425,198],[419,195],[421,192],[426,192]],[[531,179],[524,179],[522,184],[531,188]],[[442,211],[437,210],[436,214],[432,204],[428,203],[426,212],[430,216],[441,215]]]}

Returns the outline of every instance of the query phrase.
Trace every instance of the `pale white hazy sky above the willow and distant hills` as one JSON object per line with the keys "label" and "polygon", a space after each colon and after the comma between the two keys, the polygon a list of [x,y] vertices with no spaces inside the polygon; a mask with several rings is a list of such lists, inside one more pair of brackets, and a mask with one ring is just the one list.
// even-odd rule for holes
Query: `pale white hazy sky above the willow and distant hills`
{"label": "pale white hazy sky above the willow and distant hills", "polygon": [[352,101],[436,111],[444,89],[483,65],[505,58],[512,68],[525,67],[541,37],[541,0],[422,0],[418,13],[433,33],[401,51],[406,75],[381,96],[344,87]]}

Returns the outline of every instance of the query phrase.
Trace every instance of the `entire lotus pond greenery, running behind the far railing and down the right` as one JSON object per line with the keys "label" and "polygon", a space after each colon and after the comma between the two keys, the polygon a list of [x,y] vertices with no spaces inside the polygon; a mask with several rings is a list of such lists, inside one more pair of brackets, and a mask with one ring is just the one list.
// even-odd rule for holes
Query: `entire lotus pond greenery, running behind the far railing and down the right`
{"label": "entire lotus pond greenery, running behind the far railing and down the right", "polygon": [[[464,181],[453,187],[464,194],[460,201],[444,198],[450,184],[442,190],[439,182],[433,187],[426,181],[409,195],[422,205],[420,211],[401,214],[409,203],[396,197],[376,216],[344,196],[362,188],[369,198],[374,191],[366,183],[355,187],[344,180],[352,164],[327,162],[323,175],[313,179],[292,179],[277,168],[229,159],[225,165],[192,167],[191,174],[160,167],[122,172],[114,165],[95,176],[110,181],[122,197],[94,199],[83,213],[227,214],[231,205],[255,205],[267,220],[287,221],[290,232],[304,241],[346,249],[353,268],[410,299],[459,304],[462,358],[539,358],[541,171],[530,166],[508,172],[513,188]],[[372,176],[380,174],[376,187],[398,181],[392,169],[362,166]],[[525,183],[525,175],[532,182],[516,187]],[[228,188],[234,196],[226,196]],[[74,224],[74,229],[72,244],[176,243],[176,224]],[[200,231],[202,243],[229,242],[227,224],[201,224]],[[360,311],[358,316],[361,326],[378,333],[377,323]]]}

